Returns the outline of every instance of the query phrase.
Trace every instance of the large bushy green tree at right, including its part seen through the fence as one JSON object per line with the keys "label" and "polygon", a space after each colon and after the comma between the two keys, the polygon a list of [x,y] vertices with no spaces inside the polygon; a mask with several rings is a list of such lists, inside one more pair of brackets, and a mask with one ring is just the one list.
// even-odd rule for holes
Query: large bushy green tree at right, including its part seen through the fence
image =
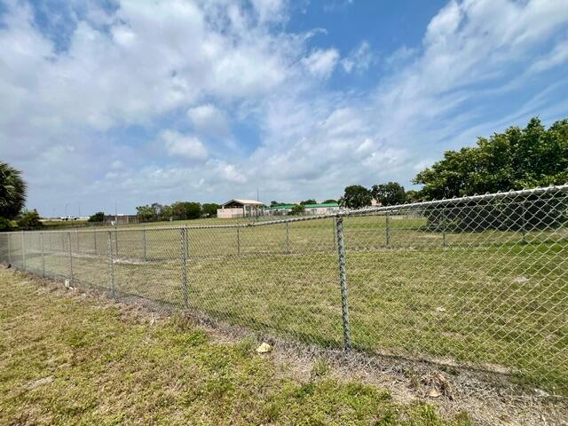
{"label": "large bushy green tree at right, including its part seen through the fence", "polygon": [[[548,130],[538,118],[525,129],[509,127],[490,138],[478,138],[477,146],[447,151],[444,159],[423,170],[414,183],[424,185],[425,200],[453,198],[476,193],[496,193],[534,186],[562,185],[568,181],[568,120]],[[518,203],[478,204],[460,201],[445,209],[426,209],[430,225],[443,220],[447,226],[481,231],[489,228],[519,229],[556,226],[566,220],[568,206],[554,197],[528,197]],[[473,220],[472,218],[475,218]]]}

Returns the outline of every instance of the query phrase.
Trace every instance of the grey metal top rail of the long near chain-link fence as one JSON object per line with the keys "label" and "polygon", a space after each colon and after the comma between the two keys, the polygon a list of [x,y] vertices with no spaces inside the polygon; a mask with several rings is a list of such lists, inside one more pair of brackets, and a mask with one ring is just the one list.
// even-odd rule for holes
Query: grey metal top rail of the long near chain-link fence
{"label": "grey metal top rail of the long near chain-link fence", "polygon": [[[515,198],[515,197],[522,197],[522,196],[529,196],[529,195],[540,195],[546,193],[568,193],[568,184],[566,185],[553,185],[553,186],[545,186],[545,187],[537,187],[532,189],[521,189],[517,191],[506,191],[506,192],[499,192],[499,193],[484,193],[479,195],[469,195],[465,197],[454,197],[454,198],[447,198],[441,200],[432,200],[432,201],[420,201],[420,202],[410,202],[405,204],[396,204],[392,206],[378,206],[378,207],[368,207],[365,209],[355,209],[355,210],[343,210],[335,213],[327,213],[323,215],[311,215],[311,216],[298,216],[298,217],[288,217],[284,219],[275,219],[275,220],[261,220],[261,221],[252,221],[247,224],[225,224],[225,225],[169,225],[169,226],[144,226],[142,225],[135,225],[129,227],[106,227],[104,229],[83,229],[83,228],[67,228],[66,230],[51,230],[51,231],[26,231],[25,233],[109,233],[109,232],[117,232],[117,233],[125,233],[125,232],[154,232],[154,231],[175,231],[180,229],[220,229],[220,228],[249,228],[249,227],[256,227],[256,226],[267,226],[267,225],[279,225],[279,224],[288,224],[293,222],[305,222],[310,220],[321,220],[327,219],[331,217],[350,217],[350,216],[360,216],[360,215],[367,215],[371,213],[390,213],[390,212],[398,212],[398,211],[406,211],[406,210],[413,210],[413,209],[421,209],[425,207],[432,207],[432,206],[444,206],[444,205],[454,205],[460,204],[462,202],[471,202],[471,201],[486,201],[486,200],[498,200],[503,198]],[[24,231],[12,231],[6,234],[20,234],[24,233]]]}

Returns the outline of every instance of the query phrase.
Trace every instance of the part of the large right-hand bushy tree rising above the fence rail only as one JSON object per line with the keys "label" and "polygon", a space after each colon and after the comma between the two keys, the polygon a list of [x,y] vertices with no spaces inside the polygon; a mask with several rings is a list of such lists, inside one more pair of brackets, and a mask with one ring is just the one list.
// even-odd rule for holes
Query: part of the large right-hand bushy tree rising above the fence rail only
{"label": "part of the large right-hand bushy tree rising above the fence rail only", "polygon": [[477,146],[447,151],[414,178],[426,200],[496,193],[568,181],[568,119],[548,130],[537,117],[525,129],[509,127]]}

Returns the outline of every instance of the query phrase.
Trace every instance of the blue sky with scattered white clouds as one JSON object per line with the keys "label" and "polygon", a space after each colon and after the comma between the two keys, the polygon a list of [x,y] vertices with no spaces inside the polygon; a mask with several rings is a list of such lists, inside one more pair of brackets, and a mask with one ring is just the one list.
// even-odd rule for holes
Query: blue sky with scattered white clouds
{"label": "blue sky with scattered white clouds", "polygon": [[568,117],[566,0],[0,0],[0,160],[44,217],[338,198]]}

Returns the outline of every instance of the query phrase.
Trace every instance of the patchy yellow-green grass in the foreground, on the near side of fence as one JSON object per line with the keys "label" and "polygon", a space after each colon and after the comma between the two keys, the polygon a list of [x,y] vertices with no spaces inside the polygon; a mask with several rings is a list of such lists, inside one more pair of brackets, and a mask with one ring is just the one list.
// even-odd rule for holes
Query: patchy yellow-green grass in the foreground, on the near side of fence
{"label": "patchy yellow-green grass in the foreground, on the near side of fence", "polygon": [[322,362],[298,378],[253,340],[216,343],[182,317],[154,321],[4,269],[0,297],[1,425],[472,424]]}

